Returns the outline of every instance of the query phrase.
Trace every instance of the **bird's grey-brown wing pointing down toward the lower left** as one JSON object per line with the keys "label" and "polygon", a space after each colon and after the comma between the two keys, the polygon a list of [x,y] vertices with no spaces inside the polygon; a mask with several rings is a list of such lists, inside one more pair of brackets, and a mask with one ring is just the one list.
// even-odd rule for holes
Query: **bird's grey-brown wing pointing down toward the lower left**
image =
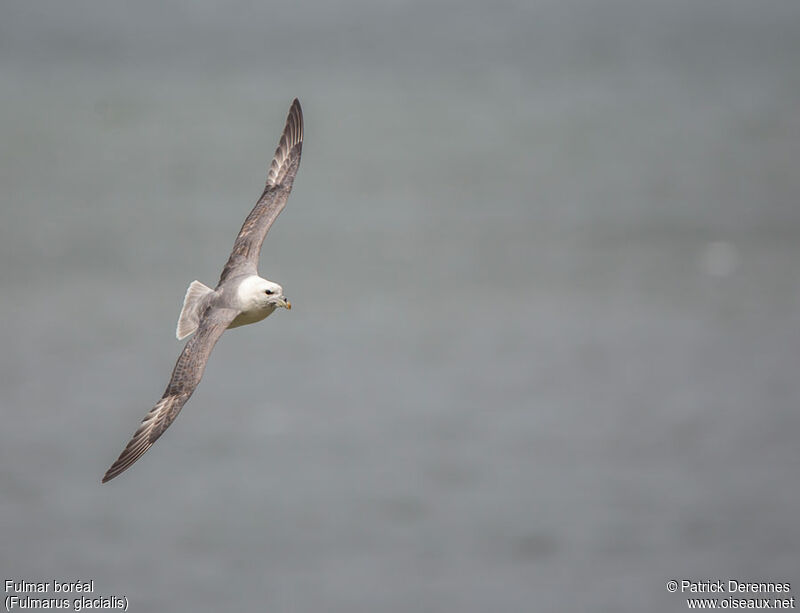
{"label": "bird's grey-brown wing pointing down toward the lower left", "polygon": [[186,401],[194,392],[219,337],[237,315],[235,309],[209,307],[200,322],[195,336],[186,343],[167,385],[164,395],[142,420],[117,461],[103,476],[103,483],[110,481],[128,469],[145,451],[150,449],[158,437],[175,421]]}

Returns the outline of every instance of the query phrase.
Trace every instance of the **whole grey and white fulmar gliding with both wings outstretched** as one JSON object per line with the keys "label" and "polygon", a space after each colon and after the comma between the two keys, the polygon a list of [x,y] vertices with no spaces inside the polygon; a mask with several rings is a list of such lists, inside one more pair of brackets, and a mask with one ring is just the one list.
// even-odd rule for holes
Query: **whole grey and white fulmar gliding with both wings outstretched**
{"label": "whole grey and white fulmar gliding with both wings outstretched", "polygon": [[133,438],[103,476],[103,483],[130,468],[175,421],[200,383],[211,350],[226,329],[261,321],[278,307],[292,308],[283,295],[283,288],[258,276],[257,268],[264,237],[292,191],[302,148],[303,111],[295,98],[269,167],[267,185],[239,230],[217,287],[211,289],[192,281],[186,290],[176,336],[178,340],[194,336],[175,363],[161,400],[142,420]]}

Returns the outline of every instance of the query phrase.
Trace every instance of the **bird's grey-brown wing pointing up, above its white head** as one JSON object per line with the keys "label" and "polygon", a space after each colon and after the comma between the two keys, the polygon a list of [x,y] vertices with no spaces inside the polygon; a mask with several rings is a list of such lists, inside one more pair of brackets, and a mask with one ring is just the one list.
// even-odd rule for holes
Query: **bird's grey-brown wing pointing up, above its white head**
{"label": "bird's grey-brown wing pointing up, above its white head", "polygon": [[300,153],[303,149],[303,111],[297,98],[289,108],[286,126],[272,158],[267,185],[258,203],[244,220],[242,229],[236,237],[225,268],[220,276],[220,284],[232,274],[256,274],[258,256],[272,222],[286,206],[292,191],[294,177],[300,167]]}

